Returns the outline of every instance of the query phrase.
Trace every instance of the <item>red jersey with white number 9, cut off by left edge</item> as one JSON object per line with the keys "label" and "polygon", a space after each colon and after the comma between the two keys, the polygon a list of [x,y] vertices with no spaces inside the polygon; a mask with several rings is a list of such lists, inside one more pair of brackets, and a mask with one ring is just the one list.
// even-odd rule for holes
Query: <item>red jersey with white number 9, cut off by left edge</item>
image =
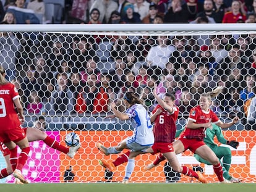
{"label": "red jersey with white number 9, cut off by left edge", "polygon": [[0,129],[10,130],[21,125],[14,108],[14,99],[19,98],[19,93],[12,83],[0,85]]}

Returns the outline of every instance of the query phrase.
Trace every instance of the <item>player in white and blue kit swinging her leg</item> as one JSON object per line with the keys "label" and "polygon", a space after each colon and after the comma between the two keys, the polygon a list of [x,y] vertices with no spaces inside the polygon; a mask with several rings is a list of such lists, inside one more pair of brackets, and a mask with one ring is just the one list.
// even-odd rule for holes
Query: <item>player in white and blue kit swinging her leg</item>
{"label": "player in white and blue kit swinging her leg", "polygon": [[123,99],[127,107],[125,113],[117,111],[115,102],[111,102],[111,109],[114,112],[113,117],[121,120],[130,119],[132,127],[134,127],[134,134],[126,138],[126,140],[121,141],[118,146],[106,148],[101,143],[96,143],[96,146],[106,156],[117,154],[123,149],[131,150],[128,164],[126,165],[126,175],[123,180],[123,183],[128,183],[130,175],[132,175],[134,170],[135,157],[153,145],[154,135],[150,117],[145,107],[143,107],[142,101],[132,92],[124,94]]}

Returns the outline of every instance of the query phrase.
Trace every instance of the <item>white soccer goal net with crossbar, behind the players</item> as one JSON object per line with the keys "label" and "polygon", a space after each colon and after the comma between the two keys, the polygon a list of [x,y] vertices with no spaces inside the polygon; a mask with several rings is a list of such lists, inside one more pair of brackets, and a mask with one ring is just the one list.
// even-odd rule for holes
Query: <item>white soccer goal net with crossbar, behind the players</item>
{"label": "white soccer goal net with crossbar, behind the players", "polygon": [[[226,140],[239,141],[237,149],[215,138],[218,145],[231,149],[231,162],[221,161],[231,164],[232,177],[255,182],[255,114],[248,112],[256,80],[253,25],[2,25],[0,31],[0,64],[20,93],[23,126],[33,127],[43,116],[49,136],[65,145],[67,133],[75,131],[82,143],[71,159],[43,141],[32,142],[23,168],[31,183],[122,181],[126,163],[109,173],[98,162],[118,157],[103,156],[96,148],[98,141],[116,146],[132,135],[129,122],[106,118],[111,114],[109,103],[117,101],[117,108],[124,112],[122,96],[132,91],[150,113],[156,105],[155,83],[160,96],[175,93],[180,110],[177,130],[186,125],[200,94],[224,86],[211,109],[223,122],[236,116],[241,120],[223,130]],[[137,156],[130,182],[197,182],[179,177],[166,162],[143,170],[155,158]],[[178,159],[201,170],[208,182],[218,182],[212,166],[198,162],[191,152],[179,154]],[[1,154],[0,162],[4,168]],[[12,181],[11,176],[0,180]]]}

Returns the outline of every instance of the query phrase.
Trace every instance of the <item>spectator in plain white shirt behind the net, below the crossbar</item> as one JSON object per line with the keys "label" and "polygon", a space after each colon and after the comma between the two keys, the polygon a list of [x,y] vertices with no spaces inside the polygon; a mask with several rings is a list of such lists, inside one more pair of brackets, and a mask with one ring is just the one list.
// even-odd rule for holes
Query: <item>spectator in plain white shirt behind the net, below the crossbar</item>
{"label": "spectator in plain white shirt behind the net, below the crossbar", "polygon": [[158,45],[153,46],[148,52],[147,61],[152,69],[158,68],[162,70],[169,62],[169,57],[171,57],[175,48],[169,44],[168,36],[158,36],[157,41]]}

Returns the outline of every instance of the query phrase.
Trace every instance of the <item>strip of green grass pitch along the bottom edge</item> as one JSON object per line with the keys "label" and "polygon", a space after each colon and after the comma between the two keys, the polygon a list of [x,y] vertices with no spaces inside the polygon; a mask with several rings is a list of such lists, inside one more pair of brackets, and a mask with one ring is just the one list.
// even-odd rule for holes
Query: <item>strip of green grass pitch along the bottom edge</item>
{"label": "strip of green grass pitch along the bottom edge", "polygon": [[0,184],[6,192],[255,192],[256,183],[32,183]]}

